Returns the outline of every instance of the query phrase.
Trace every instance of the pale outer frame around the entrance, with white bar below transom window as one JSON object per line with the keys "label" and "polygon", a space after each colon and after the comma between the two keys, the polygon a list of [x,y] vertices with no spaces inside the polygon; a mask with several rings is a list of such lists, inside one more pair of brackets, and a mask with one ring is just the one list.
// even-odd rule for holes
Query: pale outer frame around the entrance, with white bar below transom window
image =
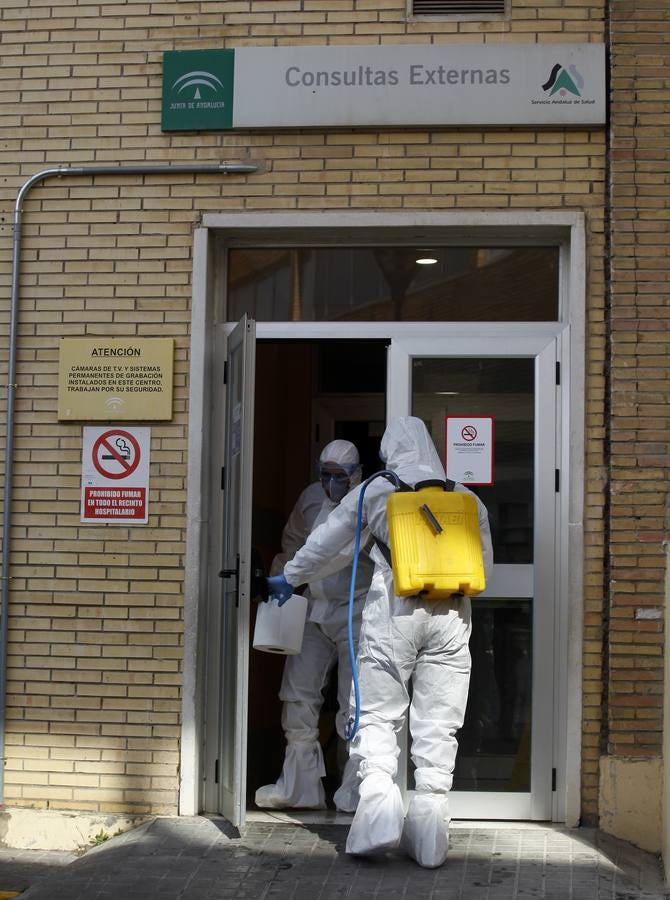
{"label": "pale outer frame around the entrance, with white bar below transom window", "polygon": [[[180,745],[179,812],[202,809],[203,648],[211,573],[207,532],[216,527],[212,472],[222,464],[220,442],[212,440],[216,409],[215,378],[220,366],[216,325],[224,322],[225,266],[216,265],[223,245],[278,244],[403,245],[419,242],[497,246],[551,243],[560,247],[559,321],[556,329],[561,384],[557,397],[557,466],[565,486],[557,502],[556,571],[557,654],[554,678],[553,757],[557,789],[552,820],[576,825],[581,804],[581,722],[583,643],[583,508],[586,256],[584,215],[580,212],[445,213],[209,213],[196,228],[193,244],[193,296],[189,380],[187,528],[184,587],[184,674]],[[225,254],[223,256],[225,259]],[[440,337],[466,327],[484,336],[545,329],[550,323],[467,325],[436,322],[351,323],[263,322],[257,337],[295,339]],[[232,326],[230,326],[232,328]],[[220,329],[218,329],[220,331]]]}

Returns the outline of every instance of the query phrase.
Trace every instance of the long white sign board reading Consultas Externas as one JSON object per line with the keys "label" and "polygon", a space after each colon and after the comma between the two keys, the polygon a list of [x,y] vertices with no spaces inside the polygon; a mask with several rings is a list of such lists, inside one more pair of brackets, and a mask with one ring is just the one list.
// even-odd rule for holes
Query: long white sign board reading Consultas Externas
{"label": "long white sign board reading Consultas Externas", "polygon": [[240,47],[234,53],[232,128],[605,123],[604,44]]}

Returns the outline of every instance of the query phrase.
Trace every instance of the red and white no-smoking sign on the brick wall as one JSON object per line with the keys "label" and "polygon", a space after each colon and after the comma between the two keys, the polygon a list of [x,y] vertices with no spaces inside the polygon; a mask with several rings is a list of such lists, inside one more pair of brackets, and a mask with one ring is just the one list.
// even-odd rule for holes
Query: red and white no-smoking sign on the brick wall
{"label": "red and white no-smoking sign on the brick wall", "polygon": [[82,522],[145,525],[149,521],[150,446],[150,428],[84,428]]}

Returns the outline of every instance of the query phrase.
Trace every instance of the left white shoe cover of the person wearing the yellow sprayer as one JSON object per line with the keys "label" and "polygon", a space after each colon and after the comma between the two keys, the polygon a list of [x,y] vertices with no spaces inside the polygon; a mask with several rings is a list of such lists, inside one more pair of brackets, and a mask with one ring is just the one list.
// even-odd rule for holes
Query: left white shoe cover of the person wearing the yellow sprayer
{"label": "left white shoe cover of the person wearing the yellow sprayer", "polygon": [[347,853],[365,856],[394,850],[400,843],[403,805],[400,788],[386,772],[363,779],[360,800],[347,836]]}

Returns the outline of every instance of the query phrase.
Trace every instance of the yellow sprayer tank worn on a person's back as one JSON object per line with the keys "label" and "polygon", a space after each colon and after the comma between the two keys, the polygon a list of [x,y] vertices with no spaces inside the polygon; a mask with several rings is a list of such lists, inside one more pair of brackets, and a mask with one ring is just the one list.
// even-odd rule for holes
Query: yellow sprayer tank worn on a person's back
{"label": "yellow sprayer tank worn on a person's back", "polygon": [[453,481],[420,481],[414,488],[401,482],[389,495],[390,547],[377,544],[398,596],[442,600],[486,587],[477,501],[454,487]]}

